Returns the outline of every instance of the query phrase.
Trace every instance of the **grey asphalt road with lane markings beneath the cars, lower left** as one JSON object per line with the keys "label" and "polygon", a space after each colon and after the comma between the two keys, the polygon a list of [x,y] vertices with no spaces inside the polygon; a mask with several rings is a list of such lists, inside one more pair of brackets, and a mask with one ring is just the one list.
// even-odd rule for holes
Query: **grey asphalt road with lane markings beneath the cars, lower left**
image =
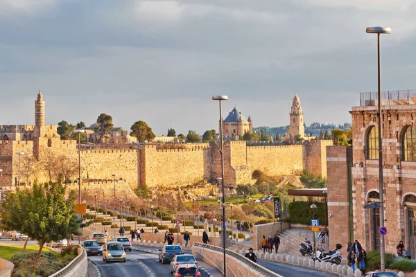
{"label": "grey asphalt road with lane markings beneath the cars, lower left", "polygon": [[[148,271],[141,267],[137,260],[143,262],[157,277],[172,277],[169,264],[162,265],[156,254],[141,251],[126,252],[126,254],[128,258],[127,262],[114,262],[109,264],[103,261],[102,256],[90,256],[88,258],[97,265],[103,277],[150,276]],[[201,275],[207,277],[205,273],[201,272]]]}

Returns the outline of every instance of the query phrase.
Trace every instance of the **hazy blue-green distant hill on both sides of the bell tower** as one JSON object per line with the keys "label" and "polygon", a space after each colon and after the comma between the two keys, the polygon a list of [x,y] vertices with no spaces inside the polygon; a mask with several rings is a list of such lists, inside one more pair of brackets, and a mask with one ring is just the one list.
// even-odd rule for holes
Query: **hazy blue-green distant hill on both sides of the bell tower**
{"label": "hazy blue-green distant hill on both sides of the bell tower", "polygon": [[[312,134],[312,136],[318,136],[320,131],[322,131],[322,133],[325,133],[325,130],[328,130],[328,132],[331,132],[333,129],[347,130],[350,127],[351,127],[350,123],[325,124],[325,123],[314,122],[309,126],[305,125],[305,134],[308,134],[308,135]],[[280,126],[280,127],[260,126],[260,127],[254,127],[253,131],[259,133],[261,130],[263,130],[264,134],[274,135],[274,134],[279,133],[280,136],[283,136],[284,134],[286,134],[288,129],[289,129],[289,125]]]}

